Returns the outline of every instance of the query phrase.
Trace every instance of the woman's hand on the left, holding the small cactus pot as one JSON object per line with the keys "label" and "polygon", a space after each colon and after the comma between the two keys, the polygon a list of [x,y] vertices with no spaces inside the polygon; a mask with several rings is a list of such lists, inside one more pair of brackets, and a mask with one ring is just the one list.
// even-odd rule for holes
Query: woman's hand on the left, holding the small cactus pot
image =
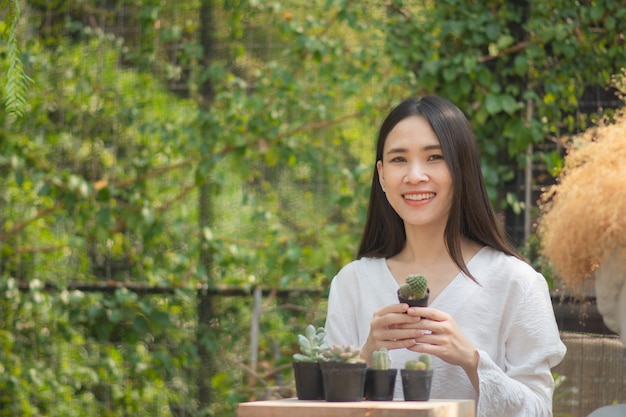
{"label": "woman's hand on the left, holding the small cactus pot", "polygon": [[361,346],[361,358],[367,363],[372,361],[372,353],[381,348],[405,349],[415,345],[416,338],[424,336],[424,330],[413,328],[420,322],[420,317],[406,314],[408,304],[390,304],[374,312],[370,323],[370,333]]}

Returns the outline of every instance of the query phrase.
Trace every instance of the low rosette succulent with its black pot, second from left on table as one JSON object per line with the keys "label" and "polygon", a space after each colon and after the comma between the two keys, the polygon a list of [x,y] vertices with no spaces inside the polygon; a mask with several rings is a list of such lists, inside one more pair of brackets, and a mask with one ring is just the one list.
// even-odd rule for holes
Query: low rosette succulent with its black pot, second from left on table
{"label": "low rosette succulent with its black pot, second from left on table", "polygon": [[320,362],[326,401],[362,401],[365,393],[367,363],[361,349],[351,345],[333,345],[324,351]]}

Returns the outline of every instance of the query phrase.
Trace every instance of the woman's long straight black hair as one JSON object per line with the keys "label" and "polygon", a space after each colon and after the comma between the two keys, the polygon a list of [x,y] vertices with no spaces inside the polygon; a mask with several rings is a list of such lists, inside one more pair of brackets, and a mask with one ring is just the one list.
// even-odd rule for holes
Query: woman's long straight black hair
{"label": "woman's long straight black hair", "polygon": [[[444,239],[454,263],[465,275],[475,280],[461,254],[461,236],[519,257],[506,238],[489,201],[474,133],[463,112],[450,101],[436,96],[413,97],[393,108],[378,133],[376,161],[383,160],[383,149],[389,132],[400,121],[411,116],[420,116],[428,121],[439,139],[444,160],[450,170],[453,199]],[[389,258],[398,254],[406,244],[404,222],[387,201],[375,165],[367,219],[357,259]]]}

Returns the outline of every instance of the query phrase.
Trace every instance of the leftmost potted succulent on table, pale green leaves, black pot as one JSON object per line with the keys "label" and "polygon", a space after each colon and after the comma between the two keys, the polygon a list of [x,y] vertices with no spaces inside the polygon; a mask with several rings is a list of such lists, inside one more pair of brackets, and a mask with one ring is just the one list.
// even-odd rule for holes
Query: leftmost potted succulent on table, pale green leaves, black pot
{"label": "leftmost potted succulent on table, pale green leaves, black pot", "polygon": [[320,362],[324,360],[326,330],[309,324],[304,334],[298,335],[300,352],[293,355],[296,395],[299,400],[324,399],[324,384]]}

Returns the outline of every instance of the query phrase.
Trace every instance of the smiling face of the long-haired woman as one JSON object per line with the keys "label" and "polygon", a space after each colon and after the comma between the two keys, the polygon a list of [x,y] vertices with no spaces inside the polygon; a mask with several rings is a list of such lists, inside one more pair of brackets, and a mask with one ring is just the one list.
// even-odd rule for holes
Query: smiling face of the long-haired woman
{"label": "smiling face of the long-haired woman", "polygon": [[399,122],[387,135],[376,167],[387,200],[405,227],[445,227],[452,204],[452,176],[426,119],[411,116]]}

